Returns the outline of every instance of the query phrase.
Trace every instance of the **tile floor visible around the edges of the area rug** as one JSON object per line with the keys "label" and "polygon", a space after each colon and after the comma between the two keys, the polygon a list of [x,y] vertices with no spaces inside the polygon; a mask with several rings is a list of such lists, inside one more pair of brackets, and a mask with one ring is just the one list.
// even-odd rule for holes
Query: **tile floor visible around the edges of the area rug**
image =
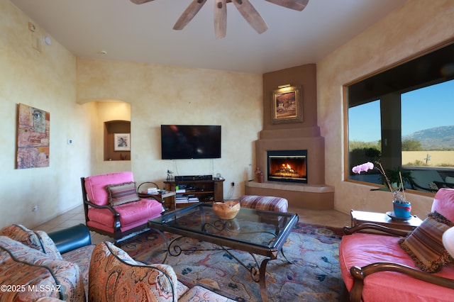
{"label": "tile floor visible around the edges of the area rug", "polygon": [[[350,214],[345,214],[334,210],[315,211],[301,208],[289,208],[289,212],[297,213],[299,216],[299,222],[301,223],[314,223],[333,227],[343,227],[345,225],[350,225]],[[84,208],[82,205],[78,206],[77,208],[73,208],[66,213],[63,213],[62,215],[57,216],[52,220],[49,220],[47,223],[38,225],[33,229],[43,230],[49,233],[55,230],[68,228],[79,223],[85,223]],[[90,233],[92,234],[92,242],[94,244],[102,241],[112,241],[110,237],[99,235],[94,232]]]}

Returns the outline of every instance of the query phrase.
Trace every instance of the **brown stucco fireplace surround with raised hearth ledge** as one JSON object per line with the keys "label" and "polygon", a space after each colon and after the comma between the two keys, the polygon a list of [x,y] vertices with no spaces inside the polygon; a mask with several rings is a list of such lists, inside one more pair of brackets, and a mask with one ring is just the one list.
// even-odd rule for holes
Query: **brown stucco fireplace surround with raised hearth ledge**
{"label": "brown stucco fireplace surround with raised hearth ledge", "polygon": [[[272,123],[270,91],[284,83],[302,87],[301,123]],[[333,209],[334,187],[325,184],[325,140],[317,125],[316,65],[301,65],[263,75],[263,121],[263,130],[255,141],[255,157],[265,182],[246,181],[245,194],[287,198],[290,207]],[[268,179],[267,152],[272,150],[307,150],[306,183]]]}

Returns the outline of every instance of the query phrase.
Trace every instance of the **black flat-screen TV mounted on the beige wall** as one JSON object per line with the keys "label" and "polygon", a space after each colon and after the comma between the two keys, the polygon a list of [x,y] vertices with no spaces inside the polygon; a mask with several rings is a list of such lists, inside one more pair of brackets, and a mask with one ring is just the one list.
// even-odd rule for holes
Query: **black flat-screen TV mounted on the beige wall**
{"label": "black flat-screen TV mounted on the beige wall", "polygon": [[161,125],[162,160],[221,158],[221,125]]}

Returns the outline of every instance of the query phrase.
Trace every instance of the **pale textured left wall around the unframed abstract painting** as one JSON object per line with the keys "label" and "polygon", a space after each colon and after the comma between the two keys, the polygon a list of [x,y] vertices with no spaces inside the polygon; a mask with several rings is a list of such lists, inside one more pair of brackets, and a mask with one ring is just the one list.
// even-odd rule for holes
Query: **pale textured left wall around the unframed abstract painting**
{"label": "pale textured left wall around the unframed abstract painting", "polygon": [[[41,52],[33,49],[29,21],[9,0],[0,0],[0,227],[30,228],[79,205],[79,177],[89,172],[91,160],[85,150],[93,107],[75,101],[75,58],[53,38]],[[35,26],[42,41],[45,32]],[[15,168],[19,103],[50,112],[50,167]],[[35,205],[38,212],[31,211]]]}

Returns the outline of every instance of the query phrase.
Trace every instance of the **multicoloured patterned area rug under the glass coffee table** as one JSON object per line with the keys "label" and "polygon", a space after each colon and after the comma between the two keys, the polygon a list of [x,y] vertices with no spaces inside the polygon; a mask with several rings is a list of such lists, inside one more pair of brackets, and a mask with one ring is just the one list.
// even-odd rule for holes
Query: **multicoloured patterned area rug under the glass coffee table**
{"label": "multicoloured patterned area rug under the glass coffee table", "polygon": [[[179,237],[165,233],[169,242]],[[343,287],[339,270],[340,228],[297,223],[282,254],[267,264],[267,294],[270,301],[338,301]],[[260,286],[248,269],[216,245],[184,237],[177,240],[183,250],[168,256],[166,264],[187,286],[200,285],[236,301],[261,301]],[[165,240],[150,231],[122,246],[135,260],[147,264],[165,259]],[[204,249],[204,251],[201,251]],[[212,250],[210,250],[212,249]],[[250,254],[232,251],[247,267],[255,265]],[[259,263],[263,259],[258,256]]]}

